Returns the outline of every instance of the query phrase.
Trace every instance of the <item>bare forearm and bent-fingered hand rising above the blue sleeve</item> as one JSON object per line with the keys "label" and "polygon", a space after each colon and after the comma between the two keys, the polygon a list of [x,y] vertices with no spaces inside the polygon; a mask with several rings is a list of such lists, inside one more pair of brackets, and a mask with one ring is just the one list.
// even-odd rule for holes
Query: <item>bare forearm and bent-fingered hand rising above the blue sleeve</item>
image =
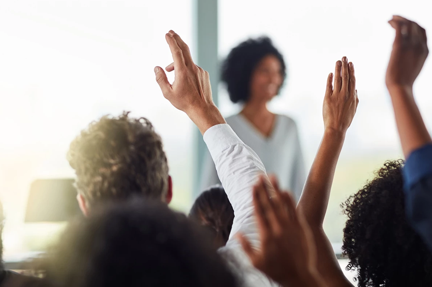
{"label": "bare forearm and bent-fingered hand rising above the blue sleeve", "polygon": [[413,85],[429,50],[426,31],[417,23],[400,16],[389,21],[395,29],[393,50],[386,73],[402,150],[407,158],[414,150],[432,143],[415,103]]}

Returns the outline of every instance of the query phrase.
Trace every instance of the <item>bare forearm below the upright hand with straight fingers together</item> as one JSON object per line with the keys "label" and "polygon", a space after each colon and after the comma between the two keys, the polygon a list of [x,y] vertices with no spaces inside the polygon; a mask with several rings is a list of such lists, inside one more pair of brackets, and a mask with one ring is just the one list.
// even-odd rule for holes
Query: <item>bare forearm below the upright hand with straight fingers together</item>
{"label": "bare forearm below the upright hand with straight fingers together", "polygon": [[297,210],[300,210],[307,223],[321,227],[327,210],[331,184],[337,160],[345,140],[345,132],[326,130],[307,176]]}

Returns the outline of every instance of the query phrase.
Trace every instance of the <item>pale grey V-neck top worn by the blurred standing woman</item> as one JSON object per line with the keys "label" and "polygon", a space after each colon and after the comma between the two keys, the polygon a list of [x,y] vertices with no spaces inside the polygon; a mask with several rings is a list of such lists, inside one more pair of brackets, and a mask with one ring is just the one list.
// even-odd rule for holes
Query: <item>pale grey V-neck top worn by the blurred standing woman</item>
{"label": "pale grey V-neck top worn by the blurred standing woman", "polygon": [[[306,174],[294,120],[285,115],[276,115],[269,137],[258,131],[255,125],[241,114],[230,116],[226,121],[237,136],[258,154],[267,174],[274,174],[280,186],[290,190],[298,201]],[[200,187],[204,190],[214,184],[220,184],[220,180],[207,151]]]}

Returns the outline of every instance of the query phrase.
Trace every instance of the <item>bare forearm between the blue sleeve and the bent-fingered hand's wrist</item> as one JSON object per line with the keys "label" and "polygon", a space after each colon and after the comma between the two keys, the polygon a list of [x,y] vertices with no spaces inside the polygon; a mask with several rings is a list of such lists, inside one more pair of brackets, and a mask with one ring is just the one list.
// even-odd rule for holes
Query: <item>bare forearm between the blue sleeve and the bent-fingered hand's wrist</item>
{"label": "bare forearm between the blue sleeve and the bent-fingered hand's wrist", "polygon": [[415,103],[412,88],[389,87],[389,92],[400,143],[407,158],[411,152],[432,140]]}

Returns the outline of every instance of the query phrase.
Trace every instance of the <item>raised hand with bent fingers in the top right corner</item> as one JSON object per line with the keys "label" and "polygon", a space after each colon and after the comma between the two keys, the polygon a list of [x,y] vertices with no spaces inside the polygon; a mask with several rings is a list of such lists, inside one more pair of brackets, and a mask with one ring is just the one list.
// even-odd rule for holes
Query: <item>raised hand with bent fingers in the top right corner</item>
{"label": "raised hand with bent fingers in the top right corner", "polygon": [[387,88],[412,89],[429,53],[426,30],[400,16],[393,16],[389,23],[396,36],[387,67]]}

